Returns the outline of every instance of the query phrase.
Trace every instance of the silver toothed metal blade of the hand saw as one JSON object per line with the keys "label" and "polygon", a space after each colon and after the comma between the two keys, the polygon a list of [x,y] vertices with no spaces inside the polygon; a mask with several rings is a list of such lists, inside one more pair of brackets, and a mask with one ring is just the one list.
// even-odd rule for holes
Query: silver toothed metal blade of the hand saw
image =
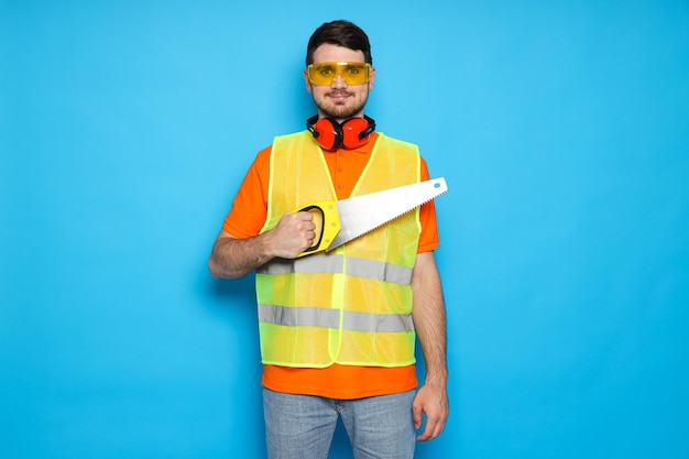
{"label": "silver toothed metal blade of the hand saw", "polygon": [[447,192],[444,177],[337,201],[340,231],[326,252],[414,210]]}

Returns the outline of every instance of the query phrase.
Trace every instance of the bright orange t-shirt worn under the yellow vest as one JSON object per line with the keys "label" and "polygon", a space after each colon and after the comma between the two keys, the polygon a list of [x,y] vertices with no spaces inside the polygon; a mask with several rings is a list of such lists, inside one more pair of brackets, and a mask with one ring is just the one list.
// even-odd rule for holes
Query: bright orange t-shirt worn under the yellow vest
{"label": "bright orange t-shirt worn under the yellow vest", "polygon": [[[338,199],[350,196],[367,165],[378,134],[360,149],[324,152]],[[259,234],[267,216],[267,185],[271,147],[259,152],[237,193],[232,209],[222,229],[236,238],[248,239]],[[422,181],[429,178],[422,159]],[[422,232],[418,253],[438,248],[438,226],[433,200],[419,212]],[[398,368],[351,367],[332,364],[325,369],[263,367],[263,386],[292,394],[319,395],[330,398],[361,398],[409,391],[418,384],[415,365]]]}

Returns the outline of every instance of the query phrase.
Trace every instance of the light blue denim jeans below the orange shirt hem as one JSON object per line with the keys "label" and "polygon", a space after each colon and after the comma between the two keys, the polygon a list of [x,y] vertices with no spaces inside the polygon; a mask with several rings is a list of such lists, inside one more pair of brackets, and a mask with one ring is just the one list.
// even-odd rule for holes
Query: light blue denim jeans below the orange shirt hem
{"label": "light blue denim jeans below the orange shirt hem", "polygon": [[340,417],[356,459],[411,459],[416,445],[415,393],[342,401],[264,389],[267,457],[327,458]]}

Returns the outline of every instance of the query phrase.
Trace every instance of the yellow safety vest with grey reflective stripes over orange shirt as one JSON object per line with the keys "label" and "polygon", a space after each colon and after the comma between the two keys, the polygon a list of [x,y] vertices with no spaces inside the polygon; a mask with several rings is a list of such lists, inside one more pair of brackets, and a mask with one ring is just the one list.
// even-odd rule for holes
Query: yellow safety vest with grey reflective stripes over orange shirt
{"label": "yellow safety vest with grey reflective stripes over orange shirt", "polygon": [[[351,196],[419,179],[418,147],[379,133]],[[267,219],[261,232],[298,206],[327,199],[337,197],[311,134],[276,138]],[[416,209],[330,253],[273,259],[259,267],[263,363],[305,368],[414,363],[411,282],[419,234]]]}

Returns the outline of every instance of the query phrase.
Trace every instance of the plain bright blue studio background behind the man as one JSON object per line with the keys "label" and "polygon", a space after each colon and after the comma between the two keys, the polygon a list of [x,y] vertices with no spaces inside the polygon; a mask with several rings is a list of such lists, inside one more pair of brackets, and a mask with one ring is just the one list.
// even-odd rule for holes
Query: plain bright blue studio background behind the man
{"label": "plain bright blue studio background behind the man", "polygon": [[680,0],[1,1],[0,457],[264,455],[253,278],[206,262],[340,18],[367,113],[450,188],[418,457],[688,458]]}

